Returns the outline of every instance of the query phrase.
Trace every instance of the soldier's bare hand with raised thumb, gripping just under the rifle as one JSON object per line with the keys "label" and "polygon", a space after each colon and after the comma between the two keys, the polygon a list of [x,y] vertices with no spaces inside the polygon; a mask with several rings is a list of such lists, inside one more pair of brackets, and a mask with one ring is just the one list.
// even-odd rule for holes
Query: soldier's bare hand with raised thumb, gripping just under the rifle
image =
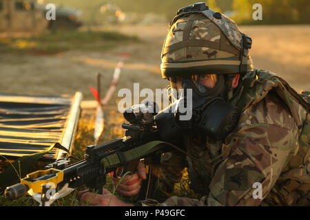
{"label": "soldier's bare hand with raised thumb, gripping just under the rifle", "polygon": [[[116,188],[116,192],[127,197],[137,195],[140,191],[142,180],[146,178],[145,166],[143,162],[140,161],[136,167],[136,173],[133,175],[126,175],[121,181],[121,184]],[[120,179],[115,177],[112,177],[112,179],[114,186],[120,181]]]}

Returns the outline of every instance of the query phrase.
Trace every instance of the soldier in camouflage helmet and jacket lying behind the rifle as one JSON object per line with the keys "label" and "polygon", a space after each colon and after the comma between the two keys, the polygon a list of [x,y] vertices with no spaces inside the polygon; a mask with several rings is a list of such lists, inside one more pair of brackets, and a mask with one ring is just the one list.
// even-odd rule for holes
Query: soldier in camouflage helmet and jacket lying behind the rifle
{"label": "soldier in camouflage helmet and jacket lying behind the rifle", "polygon": [[[170,152],[153,170],[157,192],[169,193],[187,167],[190,187],[202,197],[156,201],[155,191],[148,190],[149,199],[136,206],[310,205],[309,103],[282,78],[254,69],[250,48],[251,39],[234,21],[204,3],[178,11],[163,45],[163,78],[174,89],[184,88],[188,79],[197,97],[223,98],[240,118],[221,140],[185,135],[187,154]],[[142,193],[145,166],[140,163],[137,170],[125,177],[118,192],[130,197]],[[107,190],[96,197],[79,193],[81,201],[94,197],[91,204],[98,206],[106,206],[111,196]],[[113,197],[110,205],[133,204]]]}

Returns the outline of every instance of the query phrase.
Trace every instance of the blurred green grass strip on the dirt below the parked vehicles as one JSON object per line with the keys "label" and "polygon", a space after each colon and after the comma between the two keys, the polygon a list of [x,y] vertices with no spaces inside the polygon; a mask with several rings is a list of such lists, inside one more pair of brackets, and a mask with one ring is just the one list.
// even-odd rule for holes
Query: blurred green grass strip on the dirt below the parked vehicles
{"label": "blurred green grass strip on the dirt below the parked vehicles", "polygon": [[136,36],[103,31],[48,31],[39,36],[0,39],[0,52],[54,54],[68,50],[107,50],[139,41]]}

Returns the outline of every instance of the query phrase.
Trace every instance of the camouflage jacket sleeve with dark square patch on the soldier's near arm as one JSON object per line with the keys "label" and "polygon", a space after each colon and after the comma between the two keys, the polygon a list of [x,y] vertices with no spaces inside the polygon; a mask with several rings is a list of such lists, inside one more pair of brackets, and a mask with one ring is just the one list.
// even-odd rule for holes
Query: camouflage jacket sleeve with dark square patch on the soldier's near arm
{"label": "camouflage jacket sleeve with dark square patch on the soldier's near arm", "polygon": [[297,153],[298,127],[286,107],[267,96],[242,114],[238,131],[227,138],[207,205],[258,206]]}

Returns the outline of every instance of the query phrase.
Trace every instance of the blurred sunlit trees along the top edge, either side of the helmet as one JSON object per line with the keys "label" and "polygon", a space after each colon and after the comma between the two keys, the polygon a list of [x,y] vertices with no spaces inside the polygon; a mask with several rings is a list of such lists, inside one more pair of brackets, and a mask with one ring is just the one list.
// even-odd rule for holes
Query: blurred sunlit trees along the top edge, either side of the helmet
{"label": "blurred sunlit trees along the top edge, either side of the helmet", "polygon": [[[178,9],[198,0],[112,0],[124,10],[154,12],[172,19]],[[310,23],[309,0],[207,0],[207,5],[218,12],[227,12],[238,23],[282,24]],[[252,8],[255,3],[262,5],[262,21],[254,21]]]}

